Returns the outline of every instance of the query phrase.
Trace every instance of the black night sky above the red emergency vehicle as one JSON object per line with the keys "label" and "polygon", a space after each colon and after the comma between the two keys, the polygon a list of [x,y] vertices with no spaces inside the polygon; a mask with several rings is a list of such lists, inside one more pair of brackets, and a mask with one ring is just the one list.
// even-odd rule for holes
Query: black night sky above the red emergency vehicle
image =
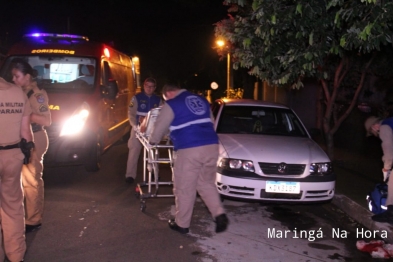
{"label": "black night sky above the red emergency vehicle", "polygon": [[213,50],[213,24],[227,18],[223,0],[58,2],[3,1],[1,45],[34,31],[85,35],[139,56],[142,78],[153,76],[158,85],[169,80],[189,89],[208,89],[211,81],[225,86],[225,61]]}

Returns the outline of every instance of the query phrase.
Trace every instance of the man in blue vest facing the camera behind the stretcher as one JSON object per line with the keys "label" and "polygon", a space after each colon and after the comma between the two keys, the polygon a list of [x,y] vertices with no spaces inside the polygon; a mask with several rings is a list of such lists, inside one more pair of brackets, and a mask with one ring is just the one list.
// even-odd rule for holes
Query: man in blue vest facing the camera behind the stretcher
{"label": "man in blue vest facing the camera behind the stretcher", "polygon": [[136,137],[136,130],[142,123],[147,113],[161,104],[161,97],[154,94],[156,90],[156,80],[152,77],[146,78],[143,82],[143,92],[135,95],[128,107],[128,119],[131,124],[131,136],[128,140],[128,161],[126,171],[126,182],[134,183],[138,166],[138,159],[141,153],[142,144]]}

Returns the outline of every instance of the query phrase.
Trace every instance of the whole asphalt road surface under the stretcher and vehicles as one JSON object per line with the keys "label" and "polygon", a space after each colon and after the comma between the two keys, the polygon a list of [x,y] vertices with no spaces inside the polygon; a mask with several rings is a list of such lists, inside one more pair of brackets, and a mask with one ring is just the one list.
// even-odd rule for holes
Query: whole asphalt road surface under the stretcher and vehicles
{"label": "whole asphalt road surface under the stretcher and vehicles", "polygon": [[[96,173],[45,168],[43,226],[26,235],[25,261],[373,261],[356,249],[358,232],[365,229],[332,204],[225,200],[231,224],[216,234],[198,198],[190,234],[171,231],[166,223],[174,208],[171,187],[160,188],[168,197],[148,198],[141,212],[135,184],[124,181],[127,153],[126,143],[119,142],[103,155]],[[160,167],[161,181],[170,174]]]}

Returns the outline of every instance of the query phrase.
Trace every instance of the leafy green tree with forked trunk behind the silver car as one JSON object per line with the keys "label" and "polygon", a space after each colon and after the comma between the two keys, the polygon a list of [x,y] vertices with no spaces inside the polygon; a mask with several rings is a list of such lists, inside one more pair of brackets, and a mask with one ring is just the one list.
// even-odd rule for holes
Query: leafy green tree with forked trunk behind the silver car
{"label": "leafy green tree with forked trunk behind the silver car", "polygon": [[[356,105],[366,77],[391,57],[393,3],[383,0],[226,0],[235,16],[215,26],[230,42],[234,68],[272,85],[303,87],[317,79],[324,94],[323,131],[334,158],[333,135]],[[389,61],[391,62],[391,61]],[[356,79],[350,81],[349,79]],[[337,97],[351,93],[343,108]]]}

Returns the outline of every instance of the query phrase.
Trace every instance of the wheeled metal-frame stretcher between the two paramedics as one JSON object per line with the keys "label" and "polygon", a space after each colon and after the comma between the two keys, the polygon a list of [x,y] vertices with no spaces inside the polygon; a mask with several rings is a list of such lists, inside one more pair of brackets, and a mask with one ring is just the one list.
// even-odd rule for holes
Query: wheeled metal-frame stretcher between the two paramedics
{"label": "wheeled metal-frame stretcher between the two paramedics", "polygon": [[[146,210],[146,199],[155,197],[173,197],[172,194],[160,194],[160,186],[173,186],[173,145],[170,144],[168,136],[165,136],[160,144],[151,145],[149,136],[152,132],[154,122],[160,112],[160,108],[154,108],[146,116],[146,131],[141,132],[138,128],[135,133],[143,146],[143,182],[138,183],[135,188],[135,195],[140,200],[140,210]],[[167,156],[163,156],[163,152]],[[161,155],[160,155],[161,153]],[[171,170],[170,181],[161,181],[159,176],[159,165],[169,164]]]}

